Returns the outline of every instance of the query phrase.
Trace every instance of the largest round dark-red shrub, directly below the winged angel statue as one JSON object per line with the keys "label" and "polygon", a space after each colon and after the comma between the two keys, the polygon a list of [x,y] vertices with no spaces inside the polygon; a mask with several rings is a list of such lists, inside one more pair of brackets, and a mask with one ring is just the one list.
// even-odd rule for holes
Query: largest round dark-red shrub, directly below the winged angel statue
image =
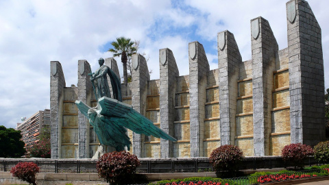
{"label": "largest round dark-red shrub, directly below the winged angel statue", "polygon": [[113,151],[105,153],[97,161],[97,171],[110,184],[132,183],[132,175],[136,173],[136,167],[141,165],[135,155],[127,151]]}

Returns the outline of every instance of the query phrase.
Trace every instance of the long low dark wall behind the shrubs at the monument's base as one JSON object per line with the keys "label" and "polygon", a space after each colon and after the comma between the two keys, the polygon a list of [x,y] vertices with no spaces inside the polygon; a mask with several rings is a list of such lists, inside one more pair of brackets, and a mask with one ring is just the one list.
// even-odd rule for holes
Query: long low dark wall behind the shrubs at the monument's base
{"label": "long low dark wall behind the shrubs at the monument's base", "polygon": [[[139,173],[196,173],[212,171],[208,158],[172,158],[172,159],[141,159]],[[52,173],[97,173],[96,160],[42,160],[42,159],[3,159],[0,160],[0,171],[10,171],[19,162],[35,162],[40,172]],[[313,157],[304,160],[304,166],[317,164]],[[245,158],[239,169],[272,169],[293,167],[280,157]]]}

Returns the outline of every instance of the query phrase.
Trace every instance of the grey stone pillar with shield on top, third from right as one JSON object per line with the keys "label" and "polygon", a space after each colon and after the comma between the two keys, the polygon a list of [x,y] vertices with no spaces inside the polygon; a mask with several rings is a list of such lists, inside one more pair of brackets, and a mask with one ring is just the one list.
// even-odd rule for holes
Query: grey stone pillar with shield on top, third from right
{"label": "grey stone pillar with shield on top, third from right", "polygon": [[239,64],[242,58],[231,32],[226,30],[218,33],[217,43],[221,145],[234,145]]}

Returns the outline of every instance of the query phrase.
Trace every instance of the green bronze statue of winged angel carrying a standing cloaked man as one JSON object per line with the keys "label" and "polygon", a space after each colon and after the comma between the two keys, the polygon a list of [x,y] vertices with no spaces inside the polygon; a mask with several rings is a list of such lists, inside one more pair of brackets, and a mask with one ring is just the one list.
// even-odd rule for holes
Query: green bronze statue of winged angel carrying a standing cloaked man
{"label": "green bronze statue of winged angel carrying a standing cloaked man", "polygon": [[[152,121],[136,112],[132,106],[122,103],[121,84],[119,77],[104,65],[103,58],[99,58],[99,69],[95,73],[90,73],[90,80],[97,99],[97,106],[90,108],[82,101],[75,101],[77,108],[89,119],[90,125],[99,138],[101,145],[114,147],[116,151],[122,151],[127,147],[130,150],[130,138],[127,136],[127,129],[137,134],[155,136],[166,140],[176,141],[160,128],[156,127]],[[114,99],[110,96],[108,86],[108,76],[112,85]],[[105,149],[107,151],[107,149]]]}

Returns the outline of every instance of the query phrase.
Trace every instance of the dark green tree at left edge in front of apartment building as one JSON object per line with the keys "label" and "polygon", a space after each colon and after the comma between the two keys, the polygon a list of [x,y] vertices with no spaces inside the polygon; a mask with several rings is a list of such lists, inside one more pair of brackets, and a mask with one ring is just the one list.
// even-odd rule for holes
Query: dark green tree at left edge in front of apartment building
{"label": "dark green tree at left edge in front of apartment building", "polygon": [[26,152],[20,130],[0,125],[0,158],[19,158]]}

